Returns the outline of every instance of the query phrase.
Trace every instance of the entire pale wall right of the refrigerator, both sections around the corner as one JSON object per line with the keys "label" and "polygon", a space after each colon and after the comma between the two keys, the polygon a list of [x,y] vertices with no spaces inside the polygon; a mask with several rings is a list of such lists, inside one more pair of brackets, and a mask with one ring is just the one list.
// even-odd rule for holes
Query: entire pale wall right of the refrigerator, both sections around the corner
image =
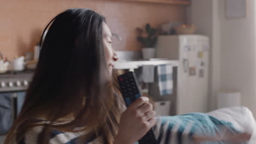
{"label": "entire pale wall right of the refrigerator, both sections around the corner", "polygon": [[247,0],[246,18],[226,19],[225,1],[192,0],[191,23],[211,39],[209,110],[220,89],[235,89],[256,116],[255,5]]}

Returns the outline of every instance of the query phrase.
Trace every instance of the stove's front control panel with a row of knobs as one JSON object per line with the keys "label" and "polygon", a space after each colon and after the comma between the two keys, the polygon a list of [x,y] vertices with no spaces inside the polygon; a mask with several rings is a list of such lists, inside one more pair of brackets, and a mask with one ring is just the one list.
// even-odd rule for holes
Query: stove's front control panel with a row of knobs
{"label": "stove's front control panel with a row of knobs", "polygon": [[33,71],[0,74],[0,92],[26,91]]}

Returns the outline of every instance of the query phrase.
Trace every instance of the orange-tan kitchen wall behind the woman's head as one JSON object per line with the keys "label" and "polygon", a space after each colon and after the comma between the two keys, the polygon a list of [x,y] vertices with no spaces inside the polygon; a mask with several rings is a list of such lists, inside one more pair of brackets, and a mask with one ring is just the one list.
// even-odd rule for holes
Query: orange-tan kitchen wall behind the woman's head
{"label": "orange-tan kitchen wall behind the woman's head", "polygon": [[9,60],[33,52],[46,23],[68,8],[90,8],[106,16],[116,50],[139,51],[136,27],[147,22],[158,26],[166,21],[185,22],[181,5],[123,2],[117,0],[8,0],[0,1],[0,52]]}

